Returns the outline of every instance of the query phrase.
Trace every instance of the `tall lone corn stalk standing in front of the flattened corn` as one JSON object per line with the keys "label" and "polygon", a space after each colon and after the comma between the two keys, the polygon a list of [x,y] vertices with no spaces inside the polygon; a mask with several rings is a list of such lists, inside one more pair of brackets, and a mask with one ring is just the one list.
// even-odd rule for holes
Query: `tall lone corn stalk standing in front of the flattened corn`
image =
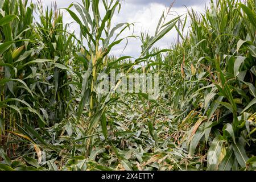
{"label": "tall lone corn stalk standing in front of the flattened corn", "polygon": [[[116,101],[117,97],[112,98],[112,92],[110,92],[105,97],[101,96],[101,94],[97,92],[97,77],[99,73],[109,73],[111,66],[108,65],[108,54],[115,45],[121,43],[122,40],[127,39],[119,38],[119,36],[124,30],[130,28],[130,26],[132,26],[133,24],[120,23],[111,29],[112,17],[115,10],[117,8],[120,9],[121,4],[119,1],[102,1],[102,3],[105,7],[105,15],[103,16],[103,18],[101,18],[101,14],[99,11],[100,1],[97,0],[83,1],[82,5],[80,5],[79,3],[72,3],[71,6],[69,6],[75,7],[76,11],[80,14],[82,20],[80,20],[79,17],[75,13],[73,13],[73,11],[71,11],[71,9],[66,10],[72,16],[72,18],[76,20],[76,22],[80,25],[82,39],[86,40],[86,46],[88,46],[88,48],[86,46],[83,46],[85,51],[82,61],[84,62],[85,69],[87,69],[87,71],[82,80],[82,94],[77,119],[80,119],[84,107],[87,106],[87,110],[89,110],[88,117],[90,118],[90,123],[86,130],[86,134],[91,135],[92,130],[94,129],[94,127],[97,126],[98,121],[101,120],[102,133],[104,134],[104,137],[107,138],[108,136],[105,119],[106,106]],[[92,14],[90,14],[89,12],[90,9],[92,10]],[[155,37],[152,37],[150,41],[145,45],[142,51],[142,55],[139,57],[139,59],[135,60],[135,64],[138,64],[138,61],[143,60],[144,57],[149,57],[149,49],[153,46],[155,42],[157,42],[168,31],[170,31],[171,28],[175,26],[176,22],[177,18],[166,24],[162,24],[162,27],[160,27],[160,23],[162,23],[162,20],[159,22],[158,30],[156,30]],[[115,31],[118,30],[119,32],[117,33],[117,35],[114,36]],[[129,58],[129,56],[123,56],[120,57],[118,61],[127,58]],[[130,68],[127,68],[126,73],[129,73],[131,69],[133,69],[133,65],[135,64],[132,64]],[[121,80],[118,81],[117,85],[115,85],[112,90],[116,89],[120,82]],[[88,142],[90,142],[90,139],[88,139]]]}

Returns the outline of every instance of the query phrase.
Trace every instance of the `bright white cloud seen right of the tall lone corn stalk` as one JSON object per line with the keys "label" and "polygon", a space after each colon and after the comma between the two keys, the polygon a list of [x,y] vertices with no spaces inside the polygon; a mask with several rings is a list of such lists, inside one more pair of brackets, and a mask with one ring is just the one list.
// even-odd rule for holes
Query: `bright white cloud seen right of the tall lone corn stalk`
{"label": "bright white cloud seen right of the tall lone corn stalk", "polygon": [[[201,6],[192,6],[192,8],[197,12],[203,12],[204,5]],[[133,4],[125,2],[122,5],[121,13],[119,15],[115,15],[113,20],[114,22],[129,22],[135,23],[135,35],[140,35],[140,32],[148,32],[151,36],[155,34],[156,27],[158,25],[158,21],[160,16],[163,13],[163,10],[166,9],[166,6],[160,3],[149,3],[146,5],[142,4]],[[184,15],[187,13],[187,9],[185,7],[173,7],[171,9],[171,15],[167,16],[166,22],[171,19],[174,19],[179,15]],[[184,17],[184,16],[183,16]],[[187,24],[184,32],[187,32],[189,27],[189,23]],[[128,36],[130,32],[125,32],[125,35]],[[158,43],[155,44],[156,47],[160,48],[168,48],[172,43],[175,43],[177,40],[177,31],[175,28],[171,30],[162,40],[159,40]],[[123,46],[123,45],[122,45]],[[139,56],[141,51],[141,42],[138,40],[131,39],[129,41],[128,46],[125,49],[124,55],[131,56]],[[122,53],[120,46],[115,47],[113,52],[114,55],[119,56]],[[118,54],[119,53],[119,54]]]}

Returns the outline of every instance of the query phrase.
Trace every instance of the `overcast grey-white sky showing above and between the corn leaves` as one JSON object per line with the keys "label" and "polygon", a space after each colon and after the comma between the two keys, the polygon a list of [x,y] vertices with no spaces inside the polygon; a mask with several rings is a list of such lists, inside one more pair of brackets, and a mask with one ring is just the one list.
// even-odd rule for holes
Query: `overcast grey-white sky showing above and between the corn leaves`
{"label": "overcast grey-white sky showing above and between the corn leaves", "polygon": [[[36,0],[32,0],[36,2]],[[51,6],[52,2],[57,2],[59,8],[68,7],[72,2],[81,2],[81,0],[42,0],[44,6]],[[123,0],[122,8],[119,14],[114,15],[113,25],[123,22],[135,23],[134,35],[139,35],[141,31],[148,32],[150,35],[154,35],[155,28],[158,24],[158,20],[166,7],[170,6],[172,0]],[[187,13],[187,7],[192,7],[198,13],[204,13],[205,5],[208,5],[209,0],[176,0],[172,7],[172,15],[168,16],[168,19],[175,18],[177,14],[184,15]],[[73,19],[65,10],[63,10],[64,23],[71,23]],[[188,24],[189,25],[189,24]],[[174,28],[175,29],[175,28]],[[75,30],[79,34],[79,26],[72,23],[71,30]],[[188,26],[185,31],[188,30]],[[124,32],[123,36],[131,35],[132,31]],[[172,43],[177,41],[177,32],[172,30],[162,40],[156,43],[156,47],[169,48]],[[114,47],[112,54],[120,56],[126,42]],[[129,55],[137,57],[141,53],[141,42],[136,39],[129,39],[128,46],[126,47],[123,55]]]}

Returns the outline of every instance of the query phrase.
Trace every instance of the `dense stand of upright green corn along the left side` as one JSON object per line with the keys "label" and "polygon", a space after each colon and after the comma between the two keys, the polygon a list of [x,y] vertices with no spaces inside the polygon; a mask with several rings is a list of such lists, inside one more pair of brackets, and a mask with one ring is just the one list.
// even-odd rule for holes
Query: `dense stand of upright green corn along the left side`
{"label": "dense stand of upright green corn along the left side", "polygon": [[[15,156],[19,143],[12,144],[10,138],[21,138],[22,142],[34,146],[34,151],[40,156],[40,145],[47,144],[39,134],[44,134],[45,127],[60,122],[64,115],[72,116],[66,108],[71,100],[71,92],[68,91],[72,88],[61,81],[72,79],[69,76],[71,69],[65,66],[69,66],[72,56],[65,53],[63,47],[61,49],[60,43],[65,49],[72,47],[73,35],[66,34],[60,14],[55,14],[55,22],[52,21],[53,10],[47,10],[45,19],[41,17],[43,25],[37,24],[36,27],[32,24],[34,4],[28,5],[28,1],[4,1],[1,8],[1,70],[4,71],[1,76],[1,142],[12,152],[10,155]],[[52,36],[43,31],[43,26],[49,28],[44,23],[51,28],[56,25],[52,30],[54,38],[57,37],[56,30],[61,32],[61,42],[57,44],[60,51],[54,55],[49,50],[53,47],[48,46],[56,44],[56,39],[48,45],[40,41]],[[60,53],[65,53],[65,56]],[[63,62],[57,63],[60,60]],[[73,92],[76,92],[75,88]]]}

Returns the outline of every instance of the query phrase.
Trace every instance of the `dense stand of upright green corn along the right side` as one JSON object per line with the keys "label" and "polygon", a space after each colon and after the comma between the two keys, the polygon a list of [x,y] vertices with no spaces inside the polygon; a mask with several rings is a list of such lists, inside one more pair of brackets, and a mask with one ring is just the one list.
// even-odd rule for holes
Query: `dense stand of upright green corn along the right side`
{"label": "dense stand of upright green corn along the right side", "polygon": [[175,107],[186,108],[179,112],[179,128],[189,129],[181,139],[189,154],[197,150],[203,158],[209,144],[207,169],[245,169],[253,156],[246,149],[254,145],[251,134],[255,132],[251,120],[255,113],[255,27],[251,19],[255,2],[211,2],[205,15],[188,11],[188,39],[170,53],[176,65],[170,77],[183,84],[169,88]]}

